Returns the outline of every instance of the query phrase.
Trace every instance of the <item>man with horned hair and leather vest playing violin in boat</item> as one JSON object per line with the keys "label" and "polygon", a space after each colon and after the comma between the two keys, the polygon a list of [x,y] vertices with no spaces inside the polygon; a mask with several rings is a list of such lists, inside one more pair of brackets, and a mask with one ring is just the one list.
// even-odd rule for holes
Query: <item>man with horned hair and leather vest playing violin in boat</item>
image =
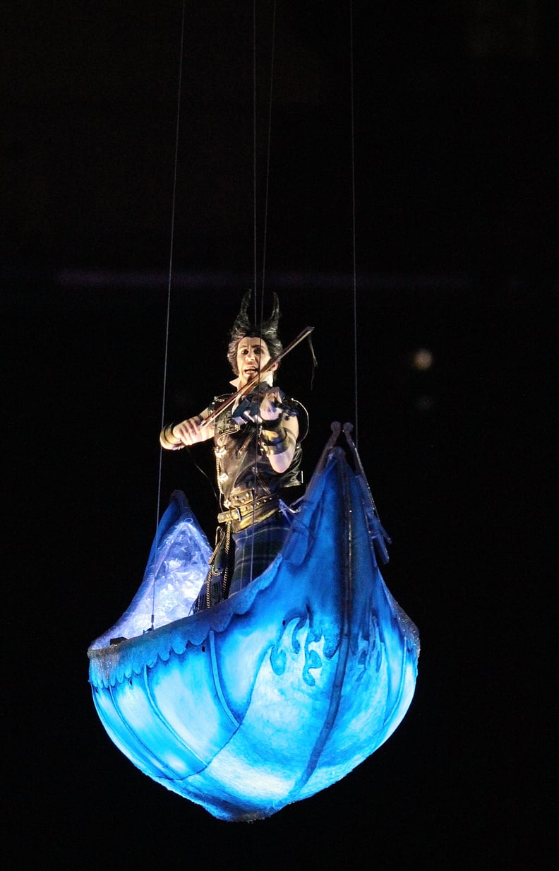
{"label": "man with horned hair and leather vest playing violin in boat", "polygon": [[180,450],[214,439],[221,511],[210,571],[193,611],[211,607],[249,584],[273,562],[290,528],[287,506],[300,496],[300,442],[306,436],[306,409],[273,384],[279,362],[260,371],[281,354],[279,302],[267,321],[251,325],[245,294],[233,324],[227,359],[239,390],[257,379],[256,387],[205,420],[230,395],[217,396],[199,415],[169,423],[159,436],[167,450]]}

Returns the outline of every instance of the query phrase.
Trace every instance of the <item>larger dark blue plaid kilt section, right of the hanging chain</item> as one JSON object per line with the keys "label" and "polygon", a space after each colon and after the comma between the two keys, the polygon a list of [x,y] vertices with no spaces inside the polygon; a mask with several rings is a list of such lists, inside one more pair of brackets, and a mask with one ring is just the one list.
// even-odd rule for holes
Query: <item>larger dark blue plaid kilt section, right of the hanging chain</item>
{"label": "larger dark blue plaid kilt section, right of the hanging chain", "polygon": [[277,557],[286,540],[291,523],[282,511],[276,511],[255,526],[233,532],[235,564],[229,587],[229,595],[239,592],[246,584],[265,571]]}

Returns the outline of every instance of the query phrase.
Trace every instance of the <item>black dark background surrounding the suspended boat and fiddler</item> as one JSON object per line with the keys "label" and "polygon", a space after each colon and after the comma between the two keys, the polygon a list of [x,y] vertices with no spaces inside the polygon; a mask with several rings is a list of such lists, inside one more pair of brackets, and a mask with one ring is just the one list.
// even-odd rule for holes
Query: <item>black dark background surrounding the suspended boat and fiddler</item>
{"label": "black dark background surrounding the suspended boat and fiddler", "polygon": [[[257,6],[255,132],[253,4],[186,3],[165,415],[226,389],[256,249],[284,341],[315,327],[313,384],[302,349],[281,370],[311,415],[307,477],[330,421],[357,417],[384,575],[421,632],[414,702],[340,784],[250,826],[152,783],[104,733],[86,650],[130,603],[157,517],[181,4],[18,3],[6,867],[549,868],[551,4],[357,0],[353,167],[347,4],[277,4],[271,111]],[[195,459],[211,475],[210,450]],[[185,454],[164,457],[164,504],[175,487],[212,535]]]}

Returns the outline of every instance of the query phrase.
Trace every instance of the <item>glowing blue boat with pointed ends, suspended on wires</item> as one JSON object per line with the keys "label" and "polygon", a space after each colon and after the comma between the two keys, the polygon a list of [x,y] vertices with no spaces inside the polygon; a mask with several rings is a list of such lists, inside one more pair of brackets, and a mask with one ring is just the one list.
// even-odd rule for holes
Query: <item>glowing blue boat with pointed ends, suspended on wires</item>
{"label": "glowing blue boat with pointed ends, suspended on wires", "polygon": [[222,820],[270,816],[340,780],[414,694],[418,632],[381,577],[388,539],[344,432],[351,465],[333,424],[273,564],[192,616],[211,548],[173,494],[136,598],[88,652],[114,743]]}

